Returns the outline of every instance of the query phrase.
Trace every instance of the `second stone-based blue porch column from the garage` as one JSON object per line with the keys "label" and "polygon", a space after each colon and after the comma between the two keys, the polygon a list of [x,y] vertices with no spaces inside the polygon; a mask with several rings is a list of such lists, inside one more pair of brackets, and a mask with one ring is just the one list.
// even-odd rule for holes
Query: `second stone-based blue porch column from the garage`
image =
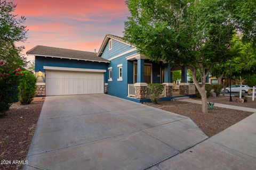
{"label": "second stone-based blue porch column from the garage", "polygon": [[171,65],[167,64],[164,67],[164,88],[165,88],[165,96],[170,97],[172,96],[172,72],[171,72]]}

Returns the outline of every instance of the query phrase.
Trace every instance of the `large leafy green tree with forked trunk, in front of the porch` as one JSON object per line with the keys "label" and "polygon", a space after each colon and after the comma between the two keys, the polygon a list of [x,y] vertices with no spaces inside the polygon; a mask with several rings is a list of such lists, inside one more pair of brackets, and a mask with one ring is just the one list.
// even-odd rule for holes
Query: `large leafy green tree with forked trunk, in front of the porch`
{"label": "large leafy green tree with forked trunk, in front of the porch", "polygon": [[207,113],[206,76],[213,65],[229,60],[223,55],[234,30],[223,1],[130,0],[126,4],[131,16],[124,37],[152,61],[188,66],[202,96],[202,112]]}

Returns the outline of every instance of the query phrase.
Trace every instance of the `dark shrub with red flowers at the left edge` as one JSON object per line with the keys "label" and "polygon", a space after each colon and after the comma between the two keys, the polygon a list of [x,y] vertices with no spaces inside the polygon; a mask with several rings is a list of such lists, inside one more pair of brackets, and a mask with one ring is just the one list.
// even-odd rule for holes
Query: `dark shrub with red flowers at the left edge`
{"label": "dark shrub with red flowers at the left edge", "polygon": [[9,69],[0,63],[0,117],[4,117],[14,100],[18,98],[20,69]]}

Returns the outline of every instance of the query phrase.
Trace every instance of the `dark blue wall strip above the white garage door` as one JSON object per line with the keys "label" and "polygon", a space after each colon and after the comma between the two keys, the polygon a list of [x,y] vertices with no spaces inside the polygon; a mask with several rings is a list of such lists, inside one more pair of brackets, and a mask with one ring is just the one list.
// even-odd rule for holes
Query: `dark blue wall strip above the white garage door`
{"label": "dark blue wall strip above the white garage door", "polygon": [[51,58],[51,57],[35,57],[35,71],[41,70],[45,72],[44,66],[54,66],[54,67],[72,67],[80,69],[103,69],[107,70],[108,63],[90,62],[82,60],[69,60],[65,58]]}

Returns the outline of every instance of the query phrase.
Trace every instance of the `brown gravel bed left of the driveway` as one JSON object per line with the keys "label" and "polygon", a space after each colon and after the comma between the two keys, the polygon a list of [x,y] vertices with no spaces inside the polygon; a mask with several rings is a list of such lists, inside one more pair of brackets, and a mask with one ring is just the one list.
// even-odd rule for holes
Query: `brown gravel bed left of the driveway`
{"label": "brown gravel bed left of the driveway", "polygon": [[[0,160],[23,160],[27,156],[37,120],[43,106],[43,99],[35,99],[30,105],[15,103],[0,118]],[[41,100],[41,101],[40,101]],[[0,169],[22,169],[23,165],[0,165]]]}

